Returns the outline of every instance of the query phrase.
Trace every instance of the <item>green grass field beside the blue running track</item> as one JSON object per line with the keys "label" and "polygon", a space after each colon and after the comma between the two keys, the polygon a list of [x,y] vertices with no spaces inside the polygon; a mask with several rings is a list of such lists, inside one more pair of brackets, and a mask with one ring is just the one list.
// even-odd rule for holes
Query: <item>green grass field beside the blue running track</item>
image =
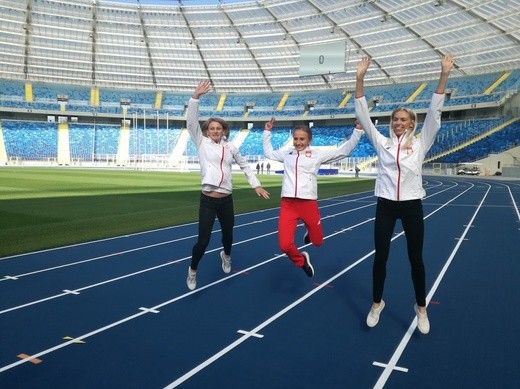
{"label": "green grass field beside the blue running track", "polygon": [[[275,208],[281,176],[260,175],[270,200],[234,175],[235,213]],[[319,177],[319,197],[371,191],[374,180]],[[0,168],[0,257],[194,222],[198,172]]]}

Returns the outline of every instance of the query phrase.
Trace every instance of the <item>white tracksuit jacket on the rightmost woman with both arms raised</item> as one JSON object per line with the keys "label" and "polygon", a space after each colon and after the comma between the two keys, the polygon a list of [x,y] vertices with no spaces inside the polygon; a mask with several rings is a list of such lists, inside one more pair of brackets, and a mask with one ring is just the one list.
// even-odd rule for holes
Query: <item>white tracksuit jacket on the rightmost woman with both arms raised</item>
{"label": "white tracksuit jacket on the rightmost woman with both arms raised", "polygon": [[390,137],[382,135],[370,120],[365,97],[355,100],[356,116],[379,159],[374,190],[377,197],[405,201],[422,199],[426,195],[422,186],[422,164],[440,129],[443,105],[444,94],[434,93],[420,135],[414,138],[410,147],[402,149],[401,144],[406,144],[410,134],[407,132],[398,139],[390,128]]}

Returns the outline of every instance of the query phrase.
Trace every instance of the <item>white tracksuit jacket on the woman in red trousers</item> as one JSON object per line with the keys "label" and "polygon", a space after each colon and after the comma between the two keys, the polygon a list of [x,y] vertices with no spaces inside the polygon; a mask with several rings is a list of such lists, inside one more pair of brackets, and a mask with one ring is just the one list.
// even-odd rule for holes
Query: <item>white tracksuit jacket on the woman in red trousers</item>
{"label": "white tracksuit jacket on the woman in red trousers", "polygon": [[363,135],[362,130],[354,129],[350,139],[338,149],[307,147],[298,152],[294,147],[273,150],[271,131],[264,130],[266,158],[283,162],[282,197],[316,200],[318,198],[317,175],[320,166],[347,157],[357,146],[361,135]]}

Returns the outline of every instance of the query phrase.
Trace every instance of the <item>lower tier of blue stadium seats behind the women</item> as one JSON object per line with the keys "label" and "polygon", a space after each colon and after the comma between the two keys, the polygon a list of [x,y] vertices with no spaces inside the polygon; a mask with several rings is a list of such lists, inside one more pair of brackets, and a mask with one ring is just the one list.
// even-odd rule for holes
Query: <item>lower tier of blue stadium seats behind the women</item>
{"label": "lower tier of blue stadium seats behind the women", "polygon": [[[456,163],[458,161],[474,161],[489,153],[498,153],[518,146],[520,139],[520,123],[516,121],[500,131],[473,142],[487,132],[503,123],[507,118],[479,119],[471,121],[445,121],[430,149],[427,158],[453,152],[437,159],[437,162]],[[419,125],[420,127],[420,125]],[[388,126],[377,126],[382,133],[388,132]],[[118,151],[120,126],[69,124],[70,157],[77,161],[107,161],[114,159]],[[10,158],[32,161],[54,161],[57,158],[57,124],[46,122],[20,122],[2,120],[2,130],[6,152]],[[234,127],[230,131],[233,141],[240,132]],[[315,126],[313,128],[314,146],[337,147],[350,136],[352,128],[345,126]],[[279,127],[273,131],[272,144],[275,149],[291,144],[289,127]],[[129,155],[139,159],[143,155],[168,156],[179,138],[180,127],[166,128],[160,126],[138,126],[130,129]],[[262,128],[251,129],[244,141],[239,145],[242,155],[250,160],[257,160],[263,155]],[[461,145],[467,146],[460,148]],[[460,148],[460,149],[459,149]],[[188,141],[183,155],[191,160],[197,160],[195,146]],[[359,145],[351,157],[367,158],[375,155],[372,145],[366,136],[361,138]]]}

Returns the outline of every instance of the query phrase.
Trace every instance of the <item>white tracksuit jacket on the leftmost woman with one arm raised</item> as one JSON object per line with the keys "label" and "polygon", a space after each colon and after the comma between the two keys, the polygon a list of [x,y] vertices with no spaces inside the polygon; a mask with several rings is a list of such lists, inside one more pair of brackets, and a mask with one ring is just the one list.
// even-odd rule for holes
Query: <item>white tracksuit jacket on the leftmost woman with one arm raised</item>
{"label": "white tracksuit jacket on the leftmost woman with one arm raised", "polygon": [[190,98],[186,122],[188,132],[193,143],[195,143],[197,154],[199,155],[202,190],[231,194],[233,190],[233,161],[245,173],[247,182],[249,182],[252,188],[261,186],[260,181],[256,178],[246,159],[240,155],[235,146],[224,139],[219,143],[215,143],[202,135],[198,117],[199,100]]}

